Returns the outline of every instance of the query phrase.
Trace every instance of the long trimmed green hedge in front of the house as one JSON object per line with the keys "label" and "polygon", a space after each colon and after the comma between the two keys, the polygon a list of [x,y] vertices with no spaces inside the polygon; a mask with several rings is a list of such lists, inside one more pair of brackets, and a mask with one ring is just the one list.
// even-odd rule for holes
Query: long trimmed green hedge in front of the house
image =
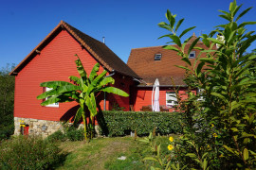
{"label": "long trimmed green hedge in front of the house", "polygon": [[124,136],[137,130],[137,135],[155,133],[166,135],[181,133],[181,114],[178,112],[148,111],[102,111],[98,114],[101,134],[106,136]]}

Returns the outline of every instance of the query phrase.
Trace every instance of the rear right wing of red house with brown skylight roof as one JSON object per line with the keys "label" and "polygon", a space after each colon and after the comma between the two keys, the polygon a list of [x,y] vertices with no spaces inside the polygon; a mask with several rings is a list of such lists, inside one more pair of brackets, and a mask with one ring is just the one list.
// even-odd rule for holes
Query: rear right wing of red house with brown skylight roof
{"label": "rear right wing of red house with brown skylight roof", "polygon": [[[196,37],[193,35],[190,42],[185,46],[185,51],[188,51],[190,44],[195,39]],[[202,42],[198,42],[196,46],[205,47]],[[192,65],[198,54],[199,50],[197,49],[193,49],[190,53],[189,59]],[[206,56],[203,54],[201,57]],[[140,84],[134,89],[136,94],[131,99],[136,111],[152,105],[152,91],[156,78],[159,80],[159,105],[162,110],[174,110],[173,107],[176,104],[174,88],[178,90],[181,97],[187,97],[187,86],[183,81],[185,71],[175,66],[185,66],[185,64],[177,52],[163,49],[162,46],[135,48],[131,50],[127,65],[142,78]],[[193,93],[196,91],[194,89]]]}

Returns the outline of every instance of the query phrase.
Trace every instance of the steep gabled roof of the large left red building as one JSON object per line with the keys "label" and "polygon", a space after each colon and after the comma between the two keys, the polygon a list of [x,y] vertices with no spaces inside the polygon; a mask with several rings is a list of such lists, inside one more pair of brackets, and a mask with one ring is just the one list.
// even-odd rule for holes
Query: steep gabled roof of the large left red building
{"label": "steep gabled roof of the large left red building", "polygon": [[119,72],[125,76],[137,77],[137,74],[125,64],[119,57],[109,49],[104,43],[95,40],[94,38],[82,33],[77,28],[68,25],[64,21],[61,21],[58,26],[56,26],[46,38],[40,42],[28,55],[23,59],[10,73],[13,76],[18,74],[27,63],[33,59],[38,52],[40,52],[54,37],[61,31],[65,29],[68,33],[81,43],[84,47],[101,65],[109,72],[115,71]]}

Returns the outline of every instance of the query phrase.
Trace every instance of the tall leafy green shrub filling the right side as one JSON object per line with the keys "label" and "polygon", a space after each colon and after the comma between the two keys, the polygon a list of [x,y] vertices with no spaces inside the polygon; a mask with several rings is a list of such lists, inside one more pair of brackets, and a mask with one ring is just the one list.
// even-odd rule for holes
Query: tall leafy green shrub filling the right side
{"label": "tall leafy green shrub filling the right side", "polygon": [[[191,168],[256,167],[256,77],[252,76],[256,70],[256,55],[245,55],[251,42],[256,40],[254,31],[247,31],[246,26],[256,22],[240,22],[251,9],[238,14],[241,7],[234,0],[229,11],[220,10],[222,14],[219,16],[228,23],[216,26],[209,35],[203,34],[190,44],[192,37],[183,43],[181,37],[194,26],[177,35],[184,19],[175,25],[176,15],[170,10],[166,13],[169,23],[158,24],[169,31],[161,38],[170,38],[177,45],[164,48],[174,50],[182,57],[186,66],[178,67],[188,73],[185,82],[189,89],[203,90],[196,95],[189,93],[189,98],[180,105],[180,109],[185,110],[182,114],[186,127],[177,154],[182,155],[179,162],[183,161]],[[223,36],[224,41],[213,38],[216,34]],[[204,43],[204,48],[196,46],[199,40]],[[189,45],[188,51],[186,45]],[[192,49],[201,51],[195,64],[188,58]],[[200,96],[204,100],[198,100]]]}

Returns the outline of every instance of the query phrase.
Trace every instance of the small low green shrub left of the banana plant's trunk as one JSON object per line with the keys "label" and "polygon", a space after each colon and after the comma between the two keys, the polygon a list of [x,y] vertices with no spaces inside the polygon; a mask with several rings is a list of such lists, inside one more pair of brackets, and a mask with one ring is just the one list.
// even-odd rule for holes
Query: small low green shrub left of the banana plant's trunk
{"label": "small low green shrub left of the banana plant's trunk", "polygon": [[82,128],[75,128],[75,127],[68,127],[65,130],[65,136],[70,141],[82,141],[84,139],[83,129]]}

